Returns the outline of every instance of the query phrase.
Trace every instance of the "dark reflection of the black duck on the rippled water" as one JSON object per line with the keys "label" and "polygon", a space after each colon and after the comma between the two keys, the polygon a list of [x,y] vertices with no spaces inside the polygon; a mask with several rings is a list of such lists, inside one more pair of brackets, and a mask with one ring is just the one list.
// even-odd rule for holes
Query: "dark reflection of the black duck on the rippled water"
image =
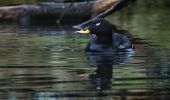
{"label": "dark reflection of the black duck on the rippled water", "polygon": [[110,53],[88,53],[87,59],[96,70],[89,75],[90,82],[97,90],[110,89],[112,86],[113,66],[126,64],[132,59],[132,52]]}

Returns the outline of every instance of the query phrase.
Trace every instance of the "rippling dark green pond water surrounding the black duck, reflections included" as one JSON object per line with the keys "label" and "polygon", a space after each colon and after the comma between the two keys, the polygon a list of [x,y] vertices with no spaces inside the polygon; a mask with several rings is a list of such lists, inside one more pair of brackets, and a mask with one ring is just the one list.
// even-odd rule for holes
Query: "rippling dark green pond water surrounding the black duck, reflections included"
{"label": "rippling dark green pond water surrounding the black duck, reflections included", "polygon": [[1,24],[0,100],[168,100],[170,8],[142,1],[107,18],[134,54],[85,55],[70,25]]}

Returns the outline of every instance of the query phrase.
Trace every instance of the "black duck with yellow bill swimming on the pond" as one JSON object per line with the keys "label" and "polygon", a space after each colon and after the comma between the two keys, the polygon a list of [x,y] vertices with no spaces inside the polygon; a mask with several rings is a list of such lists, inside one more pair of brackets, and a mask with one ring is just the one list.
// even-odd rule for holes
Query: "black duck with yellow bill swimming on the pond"
{"label": "black duck with yellow bill swimming on the pond", "polygon": [[125,31],[119,30],[104,18],[97,18],[88,27],[76,32],[90,34],[85,52],[128,52],[134,49]]}

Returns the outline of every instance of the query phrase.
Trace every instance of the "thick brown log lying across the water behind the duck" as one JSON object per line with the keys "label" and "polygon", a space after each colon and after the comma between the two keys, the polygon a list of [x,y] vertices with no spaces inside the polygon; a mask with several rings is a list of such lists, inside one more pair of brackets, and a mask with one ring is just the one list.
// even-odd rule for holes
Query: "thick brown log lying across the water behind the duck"
{"label": "thick brown log lying across the water behind the duck", "polygon": [[131,0],[97,0],[72,3],[39,3],[0,7],[0,21],[89,19],[116,6],[120,1]]}

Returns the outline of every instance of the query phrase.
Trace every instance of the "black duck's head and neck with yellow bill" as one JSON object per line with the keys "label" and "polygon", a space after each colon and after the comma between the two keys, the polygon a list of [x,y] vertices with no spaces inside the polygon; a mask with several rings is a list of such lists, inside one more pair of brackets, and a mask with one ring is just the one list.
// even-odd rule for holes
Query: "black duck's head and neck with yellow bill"
{"label": "black duck's head and neck with yellow bill", "polygon": [[98,43],[111,44],[113,29],[113,25],[107,20],[98,18],[93,20],[89,27],[77,32],[81,34],[95,34]]}

